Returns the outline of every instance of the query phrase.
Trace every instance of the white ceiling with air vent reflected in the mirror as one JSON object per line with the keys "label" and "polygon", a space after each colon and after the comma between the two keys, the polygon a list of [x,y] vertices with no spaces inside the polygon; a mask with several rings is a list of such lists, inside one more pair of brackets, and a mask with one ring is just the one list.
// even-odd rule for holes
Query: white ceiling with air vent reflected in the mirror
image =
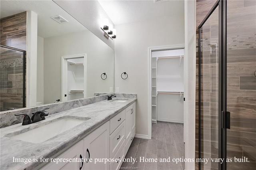
{"label": "white ceiling with air vent reflected in the mirror", "polygon": [[[82,24],[80,24],[52,0],[0,1],[0,18],[30,10],[38,14],[38,36],[42,38],[87,30]],[[56,15],[62,16],[68,20],[68,22],[59,24],[58,22],[52,20],[51,17]]]}

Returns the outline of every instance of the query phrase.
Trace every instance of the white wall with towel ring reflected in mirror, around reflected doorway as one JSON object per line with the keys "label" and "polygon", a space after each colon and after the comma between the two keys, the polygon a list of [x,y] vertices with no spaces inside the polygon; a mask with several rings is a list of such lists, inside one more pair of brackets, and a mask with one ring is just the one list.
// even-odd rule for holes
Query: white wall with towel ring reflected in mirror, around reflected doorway
{"label": "white wall with towel ring reflected in mirror, around reflected doorway", "polygon": [[[87,57],[88,97],[114,86],[114,51],[90,31],[44,38],[44,103],[61,99],[61,57],[78,54]],[[108,78],[103,81],[100,75],[104,72]]]}

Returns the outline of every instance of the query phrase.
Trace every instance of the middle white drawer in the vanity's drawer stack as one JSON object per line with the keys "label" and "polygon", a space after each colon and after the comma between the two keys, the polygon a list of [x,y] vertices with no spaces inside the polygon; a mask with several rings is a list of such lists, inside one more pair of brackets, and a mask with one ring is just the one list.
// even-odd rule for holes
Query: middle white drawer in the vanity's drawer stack
{"label": "middle white drawer in the vanity's drawer stack", "polygon": [[125,121],[121,123],[121,125],[114,130],[114,132],[110,135],[110,158],[113,158],[116,155],[116,152],[120,148],[121,144],[125,140]]}

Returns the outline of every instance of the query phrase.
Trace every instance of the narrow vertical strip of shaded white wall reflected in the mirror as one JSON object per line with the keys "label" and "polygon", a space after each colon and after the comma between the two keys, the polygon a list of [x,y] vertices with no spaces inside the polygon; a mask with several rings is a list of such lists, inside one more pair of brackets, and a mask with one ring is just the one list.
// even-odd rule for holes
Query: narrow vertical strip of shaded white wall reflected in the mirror
{"label": "narrow vertical strip of shaded white wall reflected in the mirror", "polygon": [[44,104],[44,38],[37,36],[37,96],[36,102]]}

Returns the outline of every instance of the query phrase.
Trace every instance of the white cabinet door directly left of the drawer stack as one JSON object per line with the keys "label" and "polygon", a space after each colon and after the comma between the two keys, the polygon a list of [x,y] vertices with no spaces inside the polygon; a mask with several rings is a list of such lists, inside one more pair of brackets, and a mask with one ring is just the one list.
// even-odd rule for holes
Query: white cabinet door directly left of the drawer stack
{"label": "white cabinet door directly left of the drawer stack", "polygon": [[92,158],[92,162],[85,164],[85,170],[109,170],[109,164],[94,161],[100,158],[109,158],[109,121],[94,130],[84,138],[84,155],[87,159]]}

